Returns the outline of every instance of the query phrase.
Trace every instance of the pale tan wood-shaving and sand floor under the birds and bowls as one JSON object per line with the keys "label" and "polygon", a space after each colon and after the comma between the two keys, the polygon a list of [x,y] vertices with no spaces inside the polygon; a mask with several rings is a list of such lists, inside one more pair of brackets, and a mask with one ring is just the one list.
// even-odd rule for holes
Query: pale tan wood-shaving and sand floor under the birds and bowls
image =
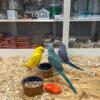
{"label": "pale tan wood-shaving and sand floor under the birds and bowls", "polygon": [[[55,95],[44,91],[35,97],[23,94],[21,80],[30,75],[36,75],[35,69],[30,72],[22,66],[26,57],[0,57],[0,100],[100,100],[100,57],[71,56],[71,60],[84,72],[74,70],[63,64],[66,75],[71,79],[78,94],[74,94],[63,78],[55,72],[55,76],[45,79],[45,82],[54,82],[62,86],[61,94]],[[43,56],[42,62],[48,62]]]}

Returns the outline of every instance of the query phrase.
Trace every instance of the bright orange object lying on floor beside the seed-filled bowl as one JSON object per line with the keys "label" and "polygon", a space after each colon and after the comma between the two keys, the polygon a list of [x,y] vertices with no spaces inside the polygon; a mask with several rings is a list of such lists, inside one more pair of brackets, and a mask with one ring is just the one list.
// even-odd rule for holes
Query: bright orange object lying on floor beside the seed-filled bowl
{"label": "bright orange object lying on floor beside the seed-filled bowl", "polygon": [[62,90],[61,86],[58,86],[57,84],[54,84],[54,83],[45,83],[44,89],[54,94],[61,93],[61,90]]}

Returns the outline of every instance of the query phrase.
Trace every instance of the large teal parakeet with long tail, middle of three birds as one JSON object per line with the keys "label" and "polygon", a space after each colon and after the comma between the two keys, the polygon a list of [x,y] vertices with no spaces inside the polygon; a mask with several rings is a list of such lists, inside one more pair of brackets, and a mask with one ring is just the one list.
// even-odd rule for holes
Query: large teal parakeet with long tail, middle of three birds
{"label": "large teal parakeet with long tail, middle of three birds", "polygon": [[61,61],[59,59],[59,56],[55,53],[52,43],[47,44],[48,45],[48,60],[49,63],[58,71],[58,73],[68,82],[70,85],[70,88],[77,93],[75,87],[72,85],[71,81],[67,78],[65,75],[63,66],[61,64]]}

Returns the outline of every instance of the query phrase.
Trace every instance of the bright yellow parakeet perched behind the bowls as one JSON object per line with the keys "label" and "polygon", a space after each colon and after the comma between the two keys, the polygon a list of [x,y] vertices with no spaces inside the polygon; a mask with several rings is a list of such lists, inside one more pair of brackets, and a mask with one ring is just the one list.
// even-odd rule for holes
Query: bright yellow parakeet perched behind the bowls
{"label": "bright yellow parakeet perched behind the bowls", "polygon": [[37,47],[35,51],[33,52],[32,56],[29,58],[28,62],[24,64],[27,68],[33,68],[39,65],[42,53],[44,52],[43,47]]}

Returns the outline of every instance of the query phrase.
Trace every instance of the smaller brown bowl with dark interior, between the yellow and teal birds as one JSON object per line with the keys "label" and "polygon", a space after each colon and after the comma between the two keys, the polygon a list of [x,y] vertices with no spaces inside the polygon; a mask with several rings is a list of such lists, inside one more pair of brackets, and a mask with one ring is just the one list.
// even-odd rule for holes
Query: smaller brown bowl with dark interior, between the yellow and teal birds
{"label": "smaller brown bowl with dark interior, between the yellow and teal birds", "polygon": [[50,78],[53,77],[53,68],[49,63],[42,63],[38,67],[39,75],[43,78]]}

